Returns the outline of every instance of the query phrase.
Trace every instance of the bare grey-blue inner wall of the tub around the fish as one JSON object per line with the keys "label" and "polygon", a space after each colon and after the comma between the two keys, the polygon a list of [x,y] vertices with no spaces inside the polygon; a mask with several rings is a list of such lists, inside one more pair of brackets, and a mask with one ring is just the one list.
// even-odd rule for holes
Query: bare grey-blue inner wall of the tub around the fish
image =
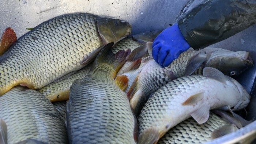
{"label": "bare grey-blue inner wall of the tub around the fish", "polygon": [[[203,0],[1,0],[0,34],[11,27],[19,38],[38,24],[55,16],[88,12],[125,20],[132,24],[132,34],[165,29],[182,14]],[[249,51],[256,62],[256,28],[253,26],[222,42],[211,45],[233,51]],[[249,68],[237,78],[251,94],[251,102],[240,115],[251,120],[256,115],[256,67]],[[256,121],[250,126],[255,128]],[[250,130],[250,129],[249,129]],[[223,142],[223,141],[222,141]]]}

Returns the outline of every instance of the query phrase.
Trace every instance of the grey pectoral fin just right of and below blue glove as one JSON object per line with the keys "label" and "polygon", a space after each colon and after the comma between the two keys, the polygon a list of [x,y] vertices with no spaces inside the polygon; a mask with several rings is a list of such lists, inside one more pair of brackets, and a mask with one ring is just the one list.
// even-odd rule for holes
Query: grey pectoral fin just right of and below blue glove
{"label": "grey pectoral fin just right of and below blue glove", "polygon": [[191,75],[193,72],[196,71],[200,67],[201,64],[203,64],[204,61],[206,61],[207,55],[203,52],[200,52],[196,54],[195,56],[191,57],[188,60],[187,66],[185,68],[184,74],[185,76]]}

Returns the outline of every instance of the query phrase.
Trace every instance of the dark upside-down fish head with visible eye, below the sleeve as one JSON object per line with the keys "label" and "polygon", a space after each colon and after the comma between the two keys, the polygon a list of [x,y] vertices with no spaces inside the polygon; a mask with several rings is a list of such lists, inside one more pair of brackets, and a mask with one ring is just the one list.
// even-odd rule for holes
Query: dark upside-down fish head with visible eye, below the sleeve
{"label": "dark upside-down fish head with visible eye, below the sleeve", "polygon": [[206,67],[214,67],[230,77],[237,77],[249,67],[252,67],[253,61],[249,52],[233,52],[217,48],[208,57]]}

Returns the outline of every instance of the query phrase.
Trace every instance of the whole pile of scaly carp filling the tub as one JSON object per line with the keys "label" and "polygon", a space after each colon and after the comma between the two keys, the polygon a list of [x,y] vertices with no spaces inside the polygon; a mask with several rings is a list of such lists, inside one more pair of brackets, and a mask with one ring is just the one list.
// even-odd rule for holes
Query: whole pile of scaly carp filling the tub
{"label": "whole pile of scaly carp filling the tub", "polygon": [[190,48],[163,68],[151,54],[159,33],[131,36],[129,23],[88,13],[50,19],[18,40],[7,28],[0,143],[183,144],[230,134],[251,143],[255,122],[234,112],[250,95],[231,78],[252,67],[249,52]]}

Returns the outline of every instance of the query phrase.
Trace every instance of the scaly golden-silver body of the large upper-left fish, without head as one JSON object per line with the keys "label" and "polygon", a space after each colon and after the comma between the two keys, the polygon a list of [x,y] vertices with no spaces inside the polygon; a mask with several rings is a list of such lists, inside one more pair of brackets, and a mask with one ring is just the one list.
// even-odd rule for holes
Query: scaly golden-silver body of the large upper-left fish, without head
{"label": "scaly golden-silver body of the large upper-left fish, without head", "polygon": [[17,83],[42,88],[82,68],[84,55],[103,45],[96,18],[85,13],[59,16],[21,37],[0,62],[0,91]]}

